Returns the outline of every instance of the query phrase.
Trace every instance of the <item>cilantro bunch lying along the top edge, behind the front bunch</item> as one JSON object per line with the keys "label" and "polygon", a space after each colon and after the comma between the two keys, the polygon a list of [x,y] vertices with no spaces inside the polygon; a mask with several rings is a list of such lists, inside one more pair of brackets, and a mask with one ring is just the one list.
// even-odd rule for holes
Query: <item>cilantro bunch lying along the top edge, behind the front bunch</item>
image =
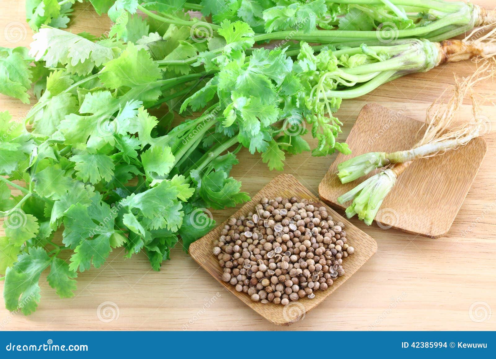
{"label": "cilantro bunch lying along the top edge, behind the front bunch", "polygon": [[[73,0],[71,0],[73,1]],[[259,40],[340,43],[427,38],[441,41],[480,25],[491,16],[470,2],[446,0],[91,0],[96,11],[115,22],[110,34],[129,39],[132,15],[141,11],[156,26],[192,26],[196,36],[215,36],[224,20],[246,22]],[[192,18],[189,10],[205,18]],[[48,24],[48,22],[45,22]]]}

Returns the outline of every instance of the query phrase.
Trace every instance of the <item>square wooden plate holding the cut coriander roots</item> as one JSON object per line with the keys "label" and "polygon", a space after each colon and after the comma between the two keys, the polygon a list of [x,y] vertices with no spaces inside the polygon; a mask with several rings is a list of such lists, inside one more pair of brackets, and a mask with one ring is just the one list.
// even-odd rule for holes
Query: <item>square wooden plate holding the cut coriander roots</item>
{"label": "square wooden plate holding the cut coriander roots", "polygon": [[[398,114],[379,104],[364,106],[346,140],[353,156],[372,151],[409,149],[420,140],[424,122]],[[472,186],[486,155],[487,144],[476,138],[454,151],[414,161],[398,178],[384,199],[375,220],[382,228],[397,228],[409,233],[438,238],[449,231]],[[345,209],[337,198],[368,176],[341,184],[339,163],[351,158],[339,154],[318,186],[320,198],[334,208]]]}

